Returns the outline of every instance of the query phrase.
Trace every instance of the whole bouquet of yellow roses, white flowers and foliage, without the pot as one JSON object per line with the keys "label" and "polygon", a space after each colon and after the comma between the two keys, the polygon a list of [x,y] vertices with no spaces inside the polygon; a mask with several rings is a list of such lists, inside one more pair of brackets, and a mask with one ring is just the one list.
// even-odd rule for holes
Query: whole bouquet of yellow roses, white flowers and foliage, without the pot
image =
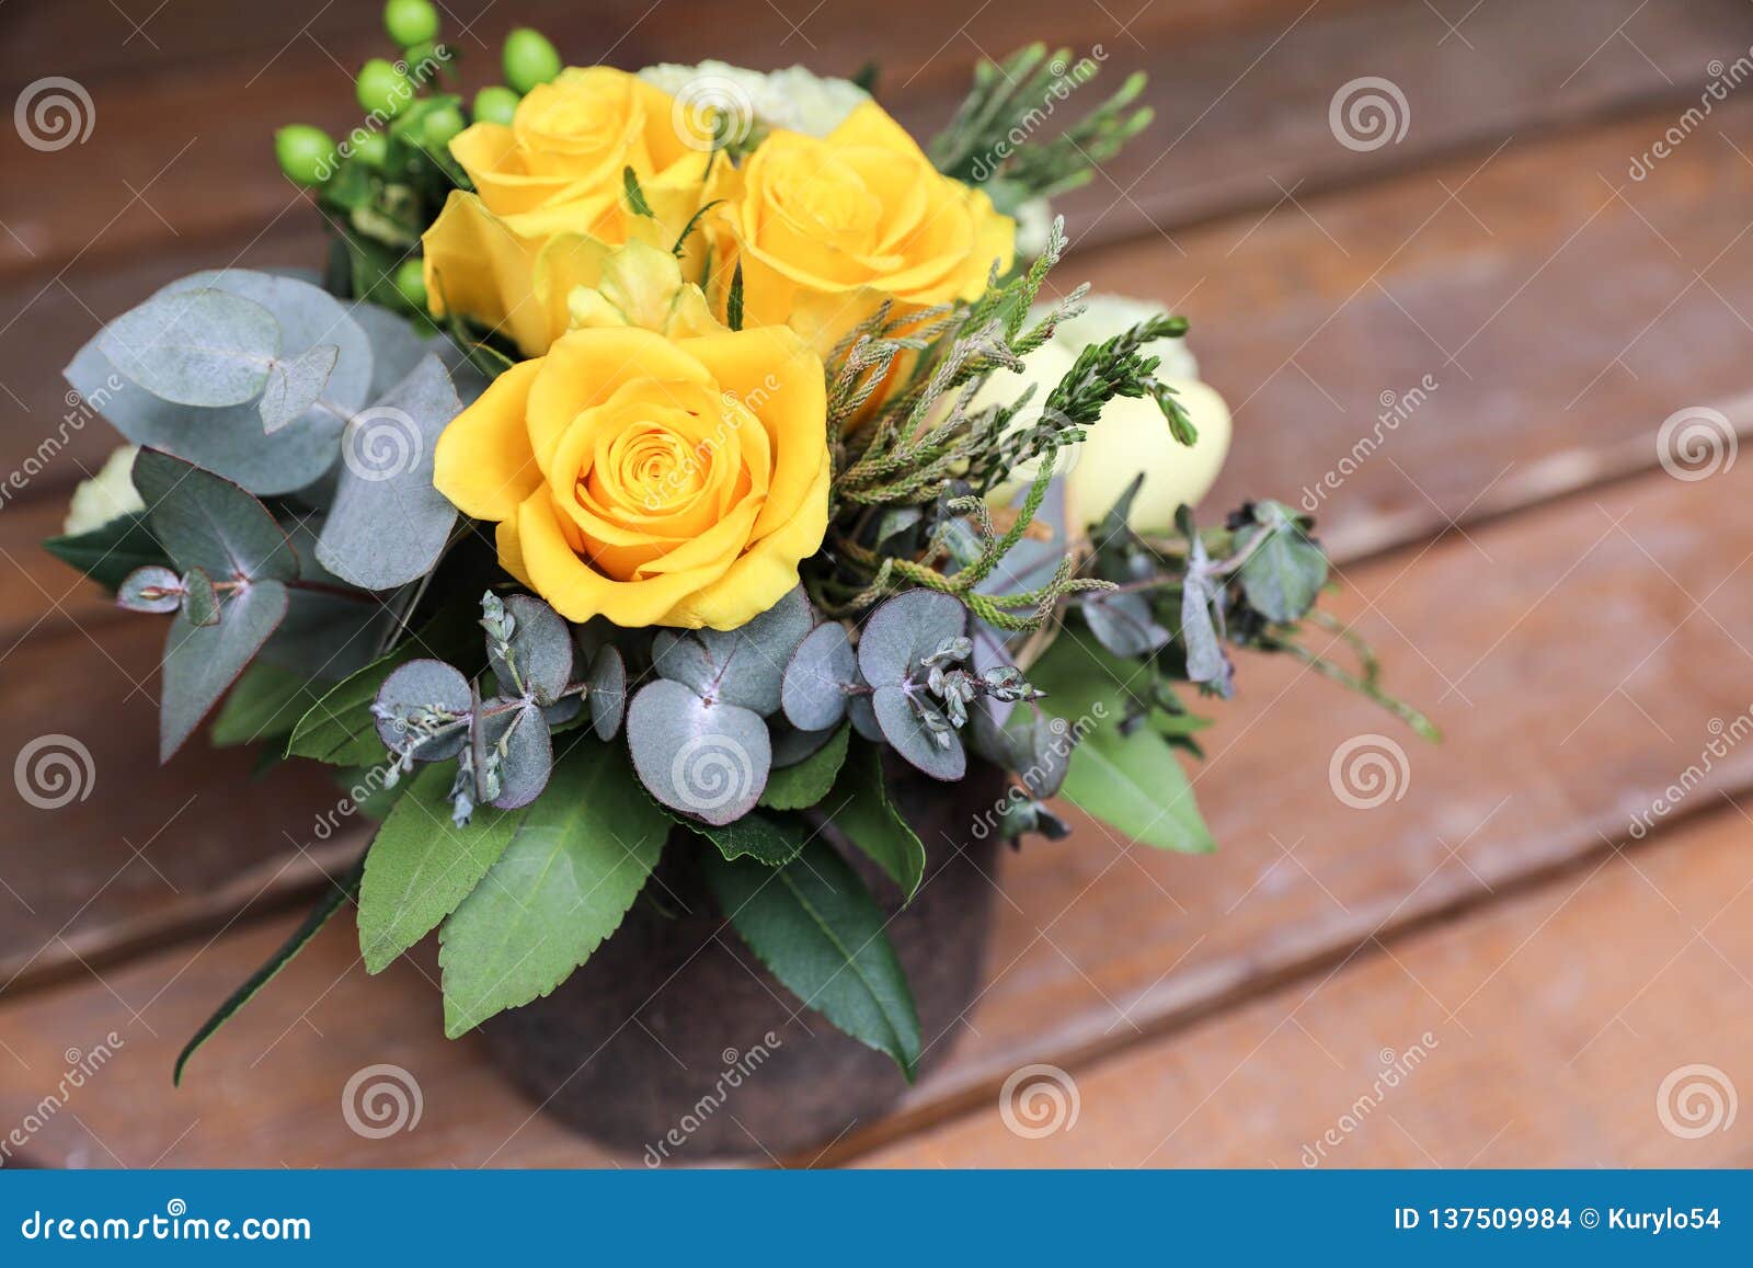
{"label": "whole bouquet of yellow roses, white flowers and foliage, without the pot", "polygon": [[179,1079],[345,905],[372,972],[436,930],[454,1036],[549,994],[666,849],[912,1077],[854,866],[926,879],[901,772],[1006,772],[975,831],[1011,842],[1066,835],[1062,796],[1197,852],[1176,752],[1238,651],[1429,730],[1317,612],[1306,516],[1194,523],[1229,416],[1187,323],[1048,298],[1048,200],[1148,123],[1141,77],[1036,139],[1094,63],[1031,47],[922,147],[869,77],[566,68],[529,30],[465,107],[433,7],[386,26],[365,121],[275,139],[326,268],[184,277],[67,368],[130,447],[47,547],[168,619],[161,758],[217,710],[377,821]]}

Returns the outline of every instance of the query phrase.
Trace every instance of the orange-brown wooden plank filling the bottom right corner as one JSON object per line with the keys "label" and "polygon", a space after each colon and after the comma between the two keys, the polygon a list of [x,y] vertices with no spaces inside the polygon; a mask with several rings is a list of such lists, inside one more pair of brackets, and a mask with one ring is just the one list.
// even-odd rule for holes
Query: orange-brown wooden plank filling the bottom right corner
{"label": "orange-brown wooden plank filling the bottom right corner", "polygon": [[[1748,823],[1723,809],[1464,923],[1364,944],[1341,970],[1185,1033],[1073,1065],[1052,1075],[1062,1094],[1076,1087],[1068,1129],[1018,1136],[994,1094],[859,1165],[1753,1165],[1746,1129],[1721,1112],[1709,1129],[1702,1100],[1753,1084]],[[1683,1073],[1664,1098],[1692,1065],[1718,1073]],[[1700,1094],[1690,1119],[1686,1084]],[[1045,1101],[1038,1112],[1017,1122],[1069,1119]]]}

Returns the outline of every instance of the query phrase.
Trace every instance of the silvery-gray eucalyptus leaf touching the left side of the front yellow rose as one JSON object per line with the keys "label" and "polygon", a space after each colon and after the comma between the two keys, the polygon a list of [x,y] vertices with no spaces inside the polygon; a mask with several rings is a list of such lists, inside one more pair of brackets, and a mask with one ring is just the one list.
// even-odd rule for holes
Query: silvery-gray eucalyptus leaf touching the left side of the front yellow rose
{"label": "silvery-gray eucalyptus leaf touching the left side of the front yellow rose", "polygon": [[342,474],[323,523],[317,558],[363,589],[393,589],[436,566],[458,510],[433,488],[433,449],[461,409],[435,356],[342,437]]}

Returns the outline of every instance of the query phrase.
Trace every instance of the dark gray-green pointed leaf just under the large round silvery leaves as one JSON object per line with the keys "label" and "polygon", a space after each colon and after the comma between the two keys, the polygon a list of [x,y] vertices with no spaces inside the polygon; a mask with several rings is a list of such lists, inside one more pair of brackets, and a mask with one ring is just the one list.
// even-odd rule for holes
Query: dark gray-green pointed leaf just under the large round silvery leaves
{"label": "dark gray-green pointed leaf just under the large round silvery leaves", "polygon": [[142,449],[133,488],[145,502],[153,535],[182,568],[214,581],[291,581],[298,556],[256,498],[228,479],[172,454]]}

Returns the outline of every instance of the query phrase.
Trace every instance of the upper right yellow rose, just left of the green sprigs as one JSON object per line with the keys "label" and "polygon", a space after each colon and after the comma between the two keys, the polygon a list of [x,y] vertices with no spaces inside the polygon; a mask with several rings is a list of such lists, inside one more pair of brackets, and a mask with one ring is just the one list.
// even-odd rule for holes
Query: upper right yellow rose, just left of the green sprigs
{"label": "upper right yellow rose, just left of the green sprigs", "polygon": [[775,132],[715,217],[719,295],[743,268],[743,323],[791,326],[824,356],[884,300],[894,314],[976,298],[1017,224],[941,175],[864,102],[827,137]]}

